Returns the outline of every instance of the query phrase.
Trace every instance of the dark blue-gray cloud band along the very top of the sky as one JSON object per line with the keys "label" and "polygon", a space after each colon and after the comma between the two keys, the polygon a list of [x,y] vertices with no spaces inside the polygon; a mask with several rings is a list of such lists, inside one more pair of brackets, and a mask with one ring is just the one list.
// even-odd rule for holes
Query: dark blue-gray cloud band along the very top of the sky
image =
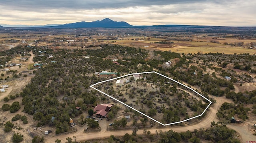
{"label": "dark blue-gray cloud band along the very top of the sky", "polygon": [[135,6],[164,6],[169,4],[191,4],[207,0],[1,0],[0,6],[10,10],[94,10],[104,8],[127,8]]}

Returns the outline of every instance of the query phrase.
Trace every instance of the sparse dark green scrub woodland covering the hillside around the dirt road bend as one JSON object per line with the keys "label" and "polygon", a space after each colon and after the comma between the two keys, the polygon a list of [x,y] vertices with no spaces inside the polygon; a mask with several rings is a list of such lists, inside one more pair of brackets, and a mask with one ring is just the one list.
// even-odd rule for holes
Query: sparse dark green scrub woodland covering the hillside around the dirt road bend
{"label": "sparse dark green scrub woodland covering the hillside around the dirt road bend", "polygon": [[[212,142],[221,141],[223,143],[239,142],[232,138],[235,131],[228,129],[223,123],[228,123],[230,116],[237,116],[242,120],[248,119],[246,114],[250,111],[250,108],[244,108],[243,104],[256,103],[255,91],[234,92],[234,83],[241,82],[242,84],[243,82],[252,82],[254,80],[255,77],[251,77],[248,74],[238,74],[235,69],[255,73],[255,55],[224,55],[221,53],[208,53],[204,55],[201,53],[191,53],[185,55],[184,53],[147,51],[145,49],[112,44],[100,45],[100,47],[102,48],[95,50],[58,49],[54,51],[47,46],[38,48],[20,46],[9,51],[0,52],[0,55],[5,56],[1,57],[0,64],[11,60],[13,56],[24,51],[32,50],[35,55],[38,55],[38,50],[43,50],[47,54],[53,55],[52,59],[47,58],[47,56],[34,57],[33,60],[36,63],[42,63],[44,66],[35,72],[36,76],[32,78],[31,83],[17,95],[17,97],[22,96],[22,103],[4,104],[2,110],[14,114],[16,111],[22,110],[22,112],[28,115],[33,115],[33,119],[37,122],[38,127],[42,125],[55,126],[56,134],[64,133],[71,129],[68,123],[70,118],[78,117],[82,112],[93,109],[92,106],[95,106],[97,103],[114,103],[114,100],[89,87],[99,81],[113,78],[100,77],[94,74],[95,71],[118,72],[120,75],[157,71],[179,82],[185,82],[191,86],[198,87],[202,91],[200,93],[213,102],[214,99],[209,94],[212,96],[226,96],[226,98],[232,99],[235,104],[222,105],[217,115],[223,121],[213,123],[212,127],[207,131],[203,131],[204,129],[196,130],[193,133],[159,131],[156,135],[147,133],[146,136],[149,139],[152,141],[160,139],[160,143],[180,141],[198,143],[201,139]],[[83,57],[86,55],[90,55],[90,58]],[[149,56],[150,58],[148,58]],[[111,59],[118,59],[120,65],[112,63]],[[162,66],[168,60],[172,61],[173,65],[170,67]],[[51,63],[51,61],[57,62]],[[209,72],[208,69],[214,72]],[[230,76],[231,80],[226,80],[225,76]],[[180,89],[182,86],[177,84],[167,85],[166,82],[164,79],[148,76],[145,81],[134,81],[124,85],[119,90],[111,88],[113,83],[102,84],[99,88],[120,99],[122,102],[128,103],[131,106],[138,106],[141,112],[150,114],[153,117],[161,115],[162,118],[160,120],[164,123],[180,121],[180,117],[182,119],[189,118],[192,116],[192,113],[193,115],[198,115],[208,105],[204,100],[197,101],[188,98],[189,95]],[[145,91],[143,86],[150,84],[154,84],[154,91]],[[139,88],[139,85],[142,85],[142,88]],[[124,94],[127,95],[124,96]],[[153,102],[153,100],[156,102]],[[23,109],[20,109],[20,104],[24,105]],[[76,110],[76,106],[81,107],[82,110]],[[142,108],[143,106],[144,108]],[[120,110],[119,107],[112,109],[110,113],[113,114],[112,118],[116,116],[118,110]],[[251,110],[256,110],[256,108],[254,107]],[[187,114],[188,111],[191,112],[190,115]],[[148,123],[148,120],[143,116],[130,110],[127,112],[130,112],[137,117],[136,119],[140,120],[141,124],[138,126],[144,126]],[[232,112],[232,114],[227,114],[227,112]],[[54,121],[51,121],[52,117],[55,117]],[[17,115],[15,119],[19,118],[22,117]],[[204,116],[200,118],[204,118]],[[97,124],[92,122],[88,120],[88,126],[92,128],[98,127]],[[122,119],[114,123],[126,126],[125,121]],[[134,125],[137,125],[137,123],[135,122]],[[12,124],[8,122],[5,129],[10,131]],[[21,140],[20,135],[16,134],[16,137]],[[110,137],[110,140],[123,143],[142,141],[136,135],[136,130],[134,130],[133,135],[124,135],[122,141],[114,136]]]}

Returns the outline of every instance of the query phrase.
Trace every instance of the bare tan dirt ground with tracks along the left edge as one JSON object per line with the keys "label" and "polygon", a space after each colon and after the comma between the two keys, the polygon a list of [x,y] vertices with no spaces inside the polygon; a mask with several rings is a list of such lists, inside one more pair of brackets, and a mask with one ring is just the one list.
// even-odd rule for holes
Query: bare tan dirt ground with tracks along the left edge
{"label": "bare tan dirt ground with tracks along the left edge", "polygon": [[[32,55],[30,59],[26,61],[25,64],[22,64],[21,67],[13,66],[13,67],[8,67],[8,69],[13,71],[17,70],[16,74],[22,71],[27,71],[28,64],[33,63],[32,59],[34,55],[32,52],[30,54]],[[10,63],[11,62],[12,61],[10,61]],[[31,78],[34,77],[34,74],[29,74],[30,72],[32,71],[22,72],[22,75],[27,74],[28,75],[27,77],[20,76],[19,78],[12,78],[12,74],[7,74],[6,71],[0,71],[0,74],[1,73],[4,74],[2,78],[5,79],[7,78],[7,76],[9,76],[8,80],[2,80],[0,82],[0,85],[9,86],[8,88],[5,88],[5,92],[0,93],[0,108],[2,108],[3,104],[12,104],[14,101],[20,102],[20,106],[21,106],[20,110],[18,110],[18,112],[16,113],[10,113],[9,111],[3,112],[2,110],[0,110],[0,114],[1,114],[0,123],[2,124],[0,126],[0,142],[1,143],[12,143],[12,136],[14,133],[22,134],[24,136],[23,137],[24,142],[30,142],[32,139],[32,136],[38,134],[36,130],[33,130],[33,125],[34,125],[33,116],[30,116],[22,112],[22,109],[24,108],[24,105],[21,104],[22,97],[15,98],[14,100],[9,100],[8,102],[3,101],[5,97],[9,97],[10,95],[15,96],[16,94],[19,94],[23,88],[25,88],[25,86],[31,81]],[[13,121],[14,128],[9,133],[5,133],[4,124],[6,123],[6,121],[11,121],[16,114],[20,114],[22,116],[25,115],[27,117],[28,124],[24,124],[21,120]]]}

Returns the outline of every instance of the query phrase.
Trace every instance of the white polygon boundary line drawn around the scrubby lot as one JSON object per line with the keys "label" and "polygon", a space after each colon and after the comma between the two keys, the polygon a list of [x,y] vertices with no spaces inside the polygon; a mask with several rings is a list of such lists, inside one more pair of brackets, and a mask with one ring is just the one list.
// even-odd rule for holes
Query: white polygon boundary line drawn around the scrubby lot
{"label": "white polygon boundary line drawn around the scrubby lot", "polygon": [[108,97],[110,97],[110,98],[112,98],[112,99],[114,99],[114,100],[116,100],[116,101],[118,101],[118,102],[124,104],[125,106],[131,108],[132,110],[135,110],[136,112],[139,112],[140,114],[142,114],[142,115],[144,115],[144,116],[146,116],[146,117],[152,119],[153,121],[155,121],[155,122],[157,122],[157,123],[160,123],[161,125],[164,125],[164,126],[165,126],[165,125],[172,125],[172,124],[176,124],[176,123],[182,123],[182,122],[184,122],[184,121],[188,121],[188,120],[190,120],[190,119],[194,119],[194,118],[200,117],[200,116],[202,116],[202,115],[204,114],[204,112],[205,112],[205,111],[209,108],[209,106],[212,104],[212,102],[211,102],[210,100],[208,100],[207,98],[205,98],[204,96],[202,96],[200,93],[196,92],[196,93],[199,94],[201,97],[203,97],[204,99],[206,99],[207,101],[210,102],[210,104],[205,108],[205,110],[204,110],[204,112],[202,112],[202,114],[200,114],[200,115],[198,115],[198,116],[195,116],[195,117],[192,117],[192,118],[189,118],[189,119],[182,120],[182,121],[177,121],[177,122],[174,122],[174,123],[163,124],[163,123],[157,121],[156,119],[153,119],[153,118],[151,118],[150,116],[148,116],[148,115],[146,115],[146,114],[144,114],[144,113],[142,113],[142,112],[140,112],[140,111],[138,111],[138,110],[132,108],[131,106],[125,104],[124,102],[121,102],[120,100],[118,100],[118,99],[116,99],[116,98],[114,98],[114,97],[112,97],[112,96],[110,96],[110,95],[108,95],[108,94],[106,94],[106,93],[104,93],[104,92],[98,90],[97,88],[94,88],[94,87],[93,87],[93,86],[95,86],[95,85],[97,85],[97,84],[100,84],[100,83],[103,83],[103,82],[107,82],[107,81],[110,81],[110,80],[115,80],[115,79],[122,78],[122,77],[125,77],[125,76],[130,76],[130,75],[133,75],[133,74],[147,74],[147,73],[156,73],[156,74],[158,74],[158,75],[160,75],[160,76],[163,76],[163,77],[165,77],[165,78],[168,78],[168,79],[170,79],[170,80],[172,80],[172,81],[174,81],[174,82],[176,82],[176,83],[178,83],[178,84],[180,84],[180,85],[182,85],[182,86],[185,86],[186,88],[188,88],[188,89],[190,89],[190,90],[196,92],[196,90],[194,90],[194,89],[192,89],[192,88],[190,88],[190,87],[188,87],[188,86],[186,86],[186,85],[184,85],[184,84],[182,84],[182,83],[180,83],[180,82],[178,82],[178,81],[176,81],[176,80],[174,80],[174,79],[172,79],[172,78],[169,78],[169,77],[164,76],[164,75],[162,75],[162,74],[160,74],[160,73],[158,73],[158,72],[155,72],[155,71],[126,74],[126,75],[119,76],[119,77],[116,77],[116,78],[112,78],[112,79],[104,80],[104,81],[101,81],[101,82],[97,82],[96,84],[93,84],[93,85],[91,85],[90,87],[93,88],[93,89],[95,89],[95,90],[97,90],[98,92],[101,92],[101,93],[105,94],[106,96],[108,96]]}

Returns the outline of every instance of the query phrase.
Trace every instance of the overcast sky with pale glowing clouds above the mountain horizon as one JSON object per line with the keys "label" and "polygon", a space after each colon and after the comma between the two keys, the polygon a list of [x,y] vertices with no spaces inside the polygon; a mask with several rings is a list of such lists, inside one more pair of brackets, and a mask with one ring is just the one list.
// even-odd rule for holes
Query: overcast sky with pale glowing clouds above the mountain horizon
{"label": "overcast sky with pale glowing clouds above the mountain horizon", "polygon": [[131,25],[256,26],[256,0],[1,0],[0,25],[110,18]]}

